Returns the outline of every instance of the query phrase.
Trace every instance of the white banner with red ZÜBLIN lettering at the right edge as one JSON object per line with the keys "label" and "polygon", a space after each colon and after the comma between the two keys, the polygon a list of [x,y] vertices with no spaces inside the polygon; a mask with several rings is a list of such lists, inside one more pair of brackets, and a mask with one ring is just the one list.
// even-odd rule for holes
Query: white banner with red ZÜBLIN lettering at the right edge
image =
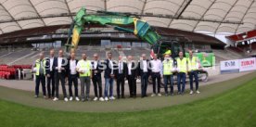
{"label": "white banner with red Z\u00dcBLIN lettering at the right edge", "polygon": [[256,58],[244,58],[239,60],[239,71],[256,70]]}

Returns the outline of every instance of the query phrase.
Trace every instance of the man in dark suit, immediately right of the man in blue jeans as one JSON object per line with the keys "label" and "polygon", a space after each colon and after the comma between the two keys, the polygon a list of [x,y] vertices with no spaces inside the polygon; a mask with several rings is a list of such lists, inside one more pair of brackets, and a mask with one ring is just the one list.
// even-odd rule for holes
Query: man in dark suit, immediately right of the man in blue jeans
{"label": "man in dark suit, immediately right of the man in blue jeans", "polygon": [[121,89],[122,89],[121,95],[122,95],[122,98],[124,98],[124,81],[125,81],[125,77],[126,77],[126,71],[127,71],[127,64],[122,61],[122,56],[120,56],[118,64],[117,64],[117,69],[115,70],[118,99],[121,97],[120,96],[120,85],[121,85]]}

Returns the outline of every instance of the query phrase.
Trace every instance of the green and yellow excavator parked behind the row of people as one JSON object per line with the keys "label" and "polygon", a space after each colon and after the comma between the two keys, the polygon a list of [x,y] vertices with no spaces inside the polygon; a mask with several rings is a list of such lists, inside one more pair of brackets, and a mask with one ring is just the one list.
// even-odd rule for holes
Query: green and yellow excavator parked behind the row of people
{"label": "green and yellow excavator parked behind the row of people", "polygon": [[[114,30],[121,32],[129,32],[134,33],[136,37],[147,42],[151,45],[152,51],[158,55],[158,57],[162,57],[162,53],[165,53],[167,47],[171,48],[172,57],[178,57],[178,52],[183,51],[185,57],[187,57],[187,53],[185,50],[186,42],[175,42],[172,40],[166,40],[161,37],[161,35],[152,28],[147,21],[138,19],[133,14],[128,13],[119,13],[119,12],[109,12],[109,11],[96,11],[96,14],[87,14],[86,9],[82,7],[74,17],[69,31],[69,38],[66,44],[67,52],[74,52],[78,46],[80,35],[84,30],[84,25],[90,24],[100,24],[103,26],[109,26],[114,28]],[[131,29],[126,26],[134,25],[134,29]],[[70,37],[72,36],[72,40],[70,43]],[[208,55],[205,57],[204,53],[197,53],[197,56],[203,63],[203,60],[212,59],[214,54]],[[211,67],[212,62],[207,62],[207,67]],[[210,64],[209,64],[210,63]],[[203,64],[201,64],[205,67]],[[205,70],[200,70],[199,73],[205,75],[202,81],[207,80],[208,73]],[[200,75],[199,75],[200,77]]]}

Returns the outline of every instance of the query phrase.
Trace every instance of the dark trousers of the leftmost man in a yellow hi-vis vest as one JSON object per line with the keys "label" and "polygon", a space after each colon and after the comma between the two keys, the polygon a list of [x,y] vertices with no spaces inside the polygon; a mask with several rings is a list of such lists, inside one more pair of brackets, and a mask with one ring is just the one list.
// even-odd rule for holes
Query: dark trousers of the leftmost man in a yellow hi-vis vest
{"label": "dark trousers of the leftmost man in a yellow hi-vis vest", "polygon": [[42,83],[43,95],[45,92],[45,75],[37,75],[35,78],[35,95],[39,95],[39,85]]}

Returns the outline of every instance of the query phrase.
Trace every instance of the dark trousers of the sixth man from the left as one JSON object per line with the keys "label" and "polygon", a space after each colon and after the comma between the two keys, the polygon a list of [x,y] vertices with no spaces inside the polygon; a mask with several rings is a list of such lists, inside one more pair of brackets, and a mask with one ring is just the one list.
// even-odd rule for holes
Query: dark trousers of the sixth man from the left
{"label": "dark trousers of the sixth man from the left", "polygon": [[101,79],[101,75],[95,75],[93,77],[93,83],[94,83],[94,89],[95,89],[96,97],[102,97],[102,79]]}

